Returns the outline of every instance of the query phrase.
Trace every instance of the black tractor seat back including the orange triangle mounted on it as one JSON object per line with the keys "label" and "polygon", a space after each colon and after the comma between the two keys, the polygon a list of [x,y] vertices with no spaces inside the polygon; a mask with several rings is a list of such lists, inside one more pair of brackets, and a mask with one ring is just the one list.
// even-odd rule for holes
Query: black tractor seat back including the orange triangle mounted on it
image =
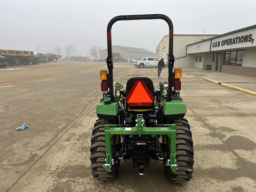
{"label": "black tractor seat back including the orange triangle mounted on it", "polygon": [[154,84],[148,77],[131,77],[126,84],[128,111],[154,111]]}

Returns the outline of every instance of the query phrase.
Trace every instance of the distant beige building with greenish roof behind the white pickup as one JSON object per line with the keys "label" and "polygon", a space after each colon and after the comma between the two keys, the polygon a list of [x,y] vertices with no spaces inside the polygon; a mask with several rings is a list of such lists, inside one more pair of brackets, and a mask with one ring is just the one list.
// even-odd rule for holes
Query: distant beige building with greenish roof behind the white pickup
{"label": "distant beige building with greenish roof behind the white pickup", "polygon": [[[113,58],[123,58],[126,61],[132,59],[139,59],[143,57],[155,57],[156,53],[148,51],[143,48],[133,48],[124,46],[112,46]],[[100,60],[104,60],[108,56],[108,49],[104,49],[100,52]]]}

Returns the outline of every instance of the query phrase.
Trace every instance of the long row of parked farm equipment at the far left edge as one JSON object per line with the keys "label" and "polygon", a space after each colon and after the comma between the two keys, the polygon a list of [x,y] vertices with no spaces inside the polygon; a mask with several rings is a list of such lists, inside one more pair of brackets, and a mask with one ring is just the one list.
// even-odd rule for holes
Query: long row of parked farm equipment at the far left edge
{"label": "long row of parked farm equipment at the far left edge", "polygon": [[32,51],[0,49],[0,54],[7,58],[8,65],[38,64],[38,55]]}

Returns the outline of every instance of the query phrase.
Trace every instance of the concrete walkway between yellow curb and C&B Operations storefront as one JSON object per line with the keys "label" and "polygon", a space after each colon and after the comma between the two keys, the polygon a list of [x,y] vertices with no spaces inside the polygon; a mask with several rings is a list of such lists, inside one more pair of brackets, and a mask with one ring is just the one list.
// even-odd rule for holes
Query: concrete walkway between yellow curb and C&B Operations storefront
{"label": "concrete walkway between yellow curb and C&B Operations storefront", "polygon": [[184,73],[194,76],[200,76],[220,83],[229,84],[239,88],[247,89],[256,92],[256,77],[245,76],[226,72],[207,71],[199,68],[184,68]]}

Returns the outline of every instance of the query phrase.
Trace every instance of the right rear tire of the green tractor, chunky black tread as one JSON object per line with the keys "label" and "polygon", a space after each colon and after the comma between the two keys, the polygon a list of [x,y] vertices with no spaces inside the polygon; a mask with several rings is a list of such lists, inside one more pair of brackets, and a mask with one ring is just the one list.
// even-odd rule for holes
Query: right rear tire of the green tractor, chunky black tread
{"label": "right rear tire of the green tractor, chunky black tread", "polygon": [[[185,118],[174,120],[173,124],[176,124],[176,164],[179,168],[173,174],[170,166],[166,166],[167,162],[165,161],[164,172],[168,180],[176,183],[187,182],[192,178],[194,164],[192,133],[188,120]],[[167,140],[167,144],[169,145],[169,139]],[[169,147],[167,146],[167,148],[167,154],[169,156]]]}

